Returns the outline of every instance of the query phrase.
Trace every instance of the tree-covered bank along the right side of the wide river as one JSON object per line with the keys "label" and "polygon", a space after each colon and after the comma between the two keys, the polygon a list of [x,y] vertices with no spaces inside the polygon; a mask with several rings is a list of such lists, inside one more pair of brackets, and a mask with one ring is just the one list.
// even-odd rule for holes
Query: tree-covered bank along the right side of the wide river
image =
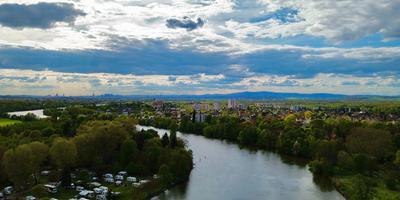
{"label": "tree-covered bank along the right side of the wide river", "polygon": [[[159,124],[164,128],[168,124],[168,127],[177,126],[186,130],[185,133],[229,141],[252,150],[273,149],[279,155],[307,159],[307,170],[316,179],[330,177],[336,191],[347,199],[357,198],[363,190],[370,194],[364,199],[400,199],[396,176],[400,162],[394,161],[396,151],[393,148],[398,145],[395,143],[397,137],[393,137],[397,135],[395,131],[391,133],[384,129],[391,128],[390,125],[353,123],[343,119],[317,119],[305,125],[289,117],[265,121],[221,117],[209,119],[207,123],[195,123],[186,118],[177,125],[168,118],[143,121],[146,125]],[[377,125],[383,128],[376,128]],[[357,146],[358,142],[361,146]],[[396,160],[400,160],[400,154],[397,157]]]}

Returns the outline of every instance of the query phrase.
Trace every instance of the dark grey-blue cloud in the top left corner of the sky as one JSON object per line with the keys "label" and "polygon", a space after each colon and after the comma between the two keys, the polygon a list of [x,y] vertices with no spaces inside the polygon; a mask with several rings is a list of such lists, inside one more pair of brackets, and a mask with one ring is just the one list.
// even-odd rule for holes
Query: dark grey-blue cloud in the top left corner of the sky
{"label": "dark grey-blue cloud in the top left corner of the sky", "polygon": [[0,4],[0,25],[11,28],[51,28],[85,15],[68,3]]}

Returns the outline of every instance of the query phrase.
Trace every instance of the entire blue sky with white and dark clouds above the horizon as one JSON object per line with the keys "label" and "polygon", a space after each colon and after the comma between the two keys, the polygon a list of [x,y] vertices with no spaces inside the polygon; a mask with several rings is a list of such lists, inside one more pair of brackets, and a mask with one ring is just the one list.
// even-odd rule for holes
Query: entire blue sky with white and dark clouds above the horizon
{"label": "entire blue sky with white and dark clouds above the horizon", "polygon": [[1,0],[0,95],[400,95],[400,1]]}

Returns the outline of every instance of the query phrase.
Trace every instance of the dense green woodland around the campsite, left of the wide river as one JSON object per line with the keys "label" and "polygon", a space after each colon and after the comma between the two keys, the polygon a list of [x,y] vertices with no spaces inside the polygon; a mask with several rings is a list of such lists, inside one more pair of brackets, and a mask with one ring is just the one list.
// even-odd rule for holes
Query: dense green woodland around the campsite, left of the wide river
{"label": "dense green woodland around the campsite, left of the wide river", "polygon": [[[162,138],[153,130],[137,130],[133,118],[96,112],[90,107],[71,106],[45,111],[50,117],[20,117],[20,123],[0,126],[0,186],[12,185],[8,198],[33,195],[36,198],[74,197],[75,174],[88,171],[93,177],[124,171],[147,180],[139,188],[115,188],[126,194],[120,199],[137,199],[185,181],[192,168],[192,152],[174,132]],[[43,171],[50,174],[43,176]],[[55,196],[44,190],[46,183],[63,188]],[[113,188],[113,185],[108,185]],[[124,198],[122,198],[124,197]]]}

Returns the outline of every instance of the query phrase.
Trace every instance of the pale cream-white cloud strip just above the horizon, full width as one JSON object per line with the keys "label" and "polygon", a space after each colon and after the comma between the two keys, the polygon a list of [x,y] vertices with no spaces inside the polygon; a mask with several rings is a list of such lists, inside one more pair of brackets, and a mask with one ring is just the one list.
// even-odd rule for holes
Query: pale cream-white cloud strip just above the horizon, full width
{"label": "pale cream-white cloud strip just above the horizon, full width", "polygon": [[[239,67],[240,68],[240,67]],[[232,69],[239,69],[234,66]],[[224,75],[134,75],[111,73],[62,73],[0,69],[0,94],[205,94],[238,91],[329,92],[345,94],[400,95],[400,80],[394,75],[356,77],[318,74],[312,78],[251,75],[224,82]],[[210,88],[213,88],[210,90]]]}

